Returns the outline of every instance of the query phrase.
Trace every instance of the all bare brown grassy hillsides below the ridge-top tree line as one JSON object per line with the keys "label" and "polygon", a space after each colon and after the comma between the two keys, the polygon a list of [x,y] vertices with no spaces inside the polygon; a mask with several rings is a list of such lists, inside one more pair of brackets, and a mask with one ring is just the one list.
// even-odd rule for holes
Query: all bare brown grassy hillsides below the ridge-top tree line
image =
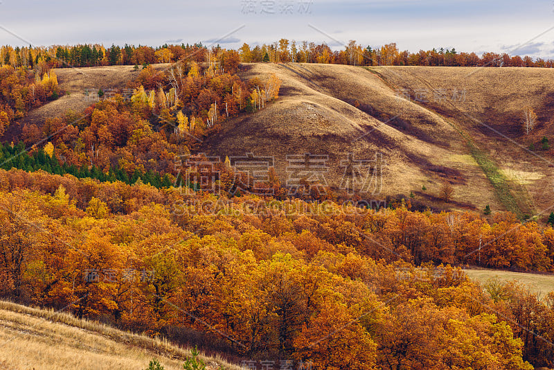
{"label": "all bare brown grassy hillsides below the ridge-top tree line", "polygon": [[[352,181],[348,168],[360,161],[375,165],[382,156],[382,175],[375,177],[382,184],[368,186],[360,195],[366,200],[413,193],[435,209],[481,211],[490,204],[493,211],[543,220],[551,211],[552,155],[528,150],[551,132],[549,69],[258,63],[242,64],[240,71],[244,78],[269,73],[282,81],[278,100],[225,121],[197,152],[222,160],[248,153],[274,157],[283,184],[290,175],[287,155],[320,155],[327,166],[323,181],[338,192],[346,191],[345,179]],[[83,109],[89,104],[85,88],[124,87],[136,72],[93,67],[57,75],[69,96],[31,112],[5,139],[26,122]],[[539,117],[529,135],[521,130],[526,106]],[[439,197],[444,182],[454,187],[449,204]]]}

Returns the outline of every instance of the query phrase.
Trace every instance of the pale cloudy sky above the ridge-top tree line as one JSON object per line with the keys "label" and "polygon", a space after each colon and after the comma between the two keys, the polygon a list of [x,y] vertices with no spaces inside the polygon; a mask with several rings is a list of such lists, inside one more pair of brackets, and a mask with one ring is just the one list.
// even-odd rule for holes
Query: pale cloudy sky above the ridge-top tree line
{"label": "pale cloudy sky above the ridge-top tree line", "polygon": [[0,44],[456,48],[554,58],[554,0],[1,0]]}

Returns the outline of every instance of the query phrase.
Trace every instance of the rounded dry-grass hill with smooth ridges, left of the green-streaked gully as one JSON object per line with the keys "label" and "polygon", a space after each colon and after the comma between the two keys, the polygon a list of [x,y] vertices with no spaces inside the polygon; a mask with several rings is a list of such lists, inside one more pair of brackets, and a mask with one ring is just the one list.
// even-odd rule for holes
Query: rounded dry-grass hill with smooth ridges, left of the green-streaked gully
{"label": "rounded dry-grass hill with smooth ridges, left of the green-streaked gully", "polygon": [[[399,98],[375,73],[359,67],[328,64],[249,64],[243,76],[276,73],[282,80],[279,99],[256,114],[233,118],[201,150],[213,155],[274,156],[281,178],[287,176],[287,154],[329,155],[328,184],[337,190],[349,153],[372,160],[383,154],[386,195],[427,191],[416,199],[434,202],[445,179],[458,205],[500,209],[494,192],[469,155],[460,134],[435,112]],[[476,195],[479,192],[479,196]],[[431,196],[430,199],[426,197]],[[445,206],[436,202],[439,206]]]}

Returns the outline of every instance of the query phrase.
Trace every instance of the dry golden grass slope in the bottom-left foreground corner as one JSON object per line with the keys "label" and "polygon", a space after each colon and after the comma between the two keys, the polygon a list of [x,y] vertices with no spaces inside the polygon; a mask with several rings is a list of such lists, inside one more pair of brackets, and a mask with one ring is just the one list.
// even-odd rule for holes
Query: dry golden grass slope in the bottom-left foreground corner
{"label": "dry golden grass slope in the bottom-left foreground corner", "polygon": [[[190,355],[165,340],[152,339],[53,310],[0,301],[0,370],[146,369],[157,358],[166,370],[183,369]],[[206,369],[238,370],[220,358]]]}

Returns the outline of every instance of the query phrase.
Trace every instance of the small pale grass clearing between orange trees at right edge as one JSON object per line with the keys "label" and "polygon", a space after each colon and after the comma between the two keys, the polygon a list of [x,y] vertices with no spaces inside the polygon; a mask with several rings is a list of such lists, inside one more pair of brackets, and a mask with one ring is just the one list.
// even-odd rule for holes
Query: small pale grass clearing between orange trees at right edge
{"label": "small pale grass clearing between orange trees at right edge", "polygon": [[498,279],[499,281],[517,281],[525,285],[531,292],[541,294],[546,297],[549,292],[554,292],[554,275],[528,274],[525,272],[510,272],[499,270],[484,269],[465,269],[463,270],[470,279],[479,281],[481,284],[487,283],[489,279]]}

